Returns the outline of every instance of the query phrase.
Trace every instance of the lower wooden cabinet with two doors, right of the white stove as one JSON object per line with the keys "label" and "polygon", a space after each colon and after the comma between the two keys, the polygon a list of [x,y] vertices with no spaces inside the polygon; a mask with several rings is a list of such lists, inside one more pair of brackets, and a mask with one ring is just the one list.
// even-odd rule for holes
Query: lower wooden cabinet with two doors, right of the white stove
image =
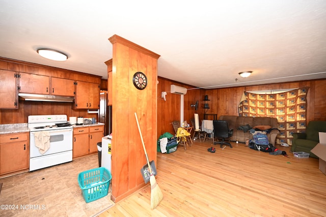
{"label": "lower wooden cabinet with two doors, right of the white stove", "polygon": [[97,152],[97,143],[104,136],[103,125],[75,127],[73,129],[72,157],[79,157]]}

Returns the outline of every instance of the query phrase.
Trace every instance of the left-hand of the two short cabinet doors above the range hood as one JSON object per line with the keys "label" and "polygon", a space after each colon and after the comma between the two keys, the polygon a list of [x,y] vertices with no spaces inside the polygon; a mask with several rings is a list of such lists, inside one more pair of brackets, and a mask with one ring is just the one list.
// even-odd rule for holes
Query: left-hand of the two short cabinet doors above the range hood
{"label": "left-hand of the two short cabinet doors above the range hood", "polygon": [[19,74],[20,74],[19,77],[20,93],[50,94],[49,76],[22,73],[22,72],[20,72]]}

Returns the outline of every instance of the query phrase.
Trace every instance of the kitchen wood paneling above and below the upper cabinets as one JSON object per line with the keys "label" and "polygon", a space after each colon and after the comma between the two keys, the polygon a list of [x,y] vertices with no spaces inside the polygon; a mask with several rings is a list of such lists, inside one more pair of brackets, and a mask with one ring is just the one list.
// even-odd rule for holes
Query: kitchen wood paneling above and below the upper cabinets
{"label": "kitchen wood paneling above and below the upper cabinets", "polygon": [[[104,64],[104,63],[103,63]],[[0,69],[15,72],[25,72],[52,77],[60,77],[82,82],[98,83],[101,77],[97,75],[76,72],[56,67],[43,66],[18,60],[0,57]],[[33,102],[18,101],[18,110],[0,110],[0,124],[27,123],[29,115],[67,115],[67,117],[97,118],[97,114],[88,114],[87,110],[73,110],[70,102]]]}

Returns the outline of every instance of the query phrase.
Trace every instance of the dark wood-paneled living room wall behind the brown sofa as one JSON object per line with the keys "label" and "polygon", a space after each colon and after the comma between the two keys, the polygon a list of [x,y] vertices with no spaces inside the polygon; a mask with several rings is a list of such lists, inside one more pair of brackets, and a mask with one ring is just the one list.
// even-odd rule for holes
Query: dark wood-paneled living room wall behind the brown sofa
{"label": "dark wood-paneled living room wall behind the brown sofa", "polygon": [[[157,136],[170,132],[174,134],[172,121],[180,120],[180,95],[171,94],[170,85],[178,85],[187,89],[194,87],[180,84],[166,78],[158,77],[158,96],[157,96]],[[184,95],[184,120],[190,123],[190,119],[194,118],[194,114],[199,114],[200,121],[204,118],[204,114],[216,114],[218,118],[221,115],[238,115],[238,103],[243,91],[258,90],[280,90],[291,88],[310,87],[308,90],[307,101],[307,123],[311,120],[326,121],[326,79],[306,80],[301,82],[289,82],[280,84],[257,85],[248,87],[222,88],[222,89],[195,89],[188,90]],[[166,91],[167,101],[164,101],[160,94]],[[208,95],[210,101],[207,103],[210,109],[204,109],[204,97]],[[195,111],[191,104],[199,100],[199,109]]]}

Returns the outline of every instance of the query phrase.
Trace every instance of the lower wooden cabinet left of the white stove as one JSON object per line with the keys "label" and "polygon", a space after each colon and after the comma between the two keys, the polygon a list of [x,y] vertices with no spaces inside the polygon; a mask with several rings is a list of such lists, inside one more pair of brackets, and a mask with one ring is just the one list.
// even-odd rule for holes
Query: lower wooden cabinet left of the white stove
{"label": "lower wooden cabinet left of the white stove", "polygon": [[29,132],[0,135],[0,175],[29,168]]}

